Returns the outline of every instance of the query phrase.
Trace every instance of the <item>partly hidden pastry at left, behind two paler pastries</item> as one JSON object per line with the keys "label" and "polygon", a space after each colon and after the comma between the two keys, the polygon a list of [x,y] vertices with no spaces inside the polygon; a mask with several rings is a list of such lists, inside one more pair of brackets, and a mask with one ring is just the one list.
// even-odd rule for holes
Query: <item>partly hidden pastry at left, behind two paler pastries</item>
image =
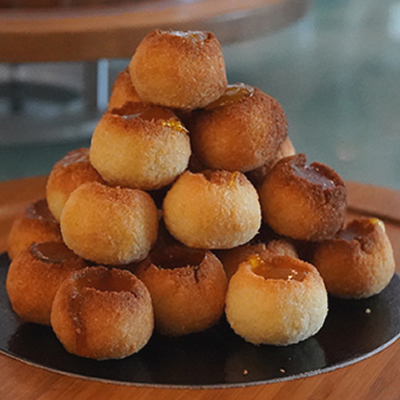
{"label": "partly hidden pastry at left, behind two paler pastries", "polygon": [[46,198],[58,222],[70,194],[86,182],[104,183],[89,162],[89,149],[73,150],[54,165],[47,180]]}

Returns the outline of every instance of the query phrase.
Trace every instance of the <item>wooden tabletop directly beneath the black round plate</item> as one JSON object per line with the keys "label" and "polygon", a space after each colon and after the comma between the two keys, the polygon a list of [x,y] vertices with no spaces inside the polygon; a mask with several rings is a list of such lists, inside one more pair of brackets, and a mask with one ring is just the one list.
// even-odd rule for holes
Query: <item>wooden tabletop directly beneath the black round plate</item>
{"label": "wooden tabletop directly beneath the black round plate", "polygon": [[[4,251],[15,215],[44,196],[46,177],[0,183],[0,251]],[[400,192],[348,183],[349,208],[386,222],[400,271]],[[1,321],[0,321],[1,329]],[[351,399],[400,398],[400,340],[361,362],[309,378],[232,389],[154,389],[113,385],[73,378],[29,366],[0,355],[2,400],[124,399]]]}

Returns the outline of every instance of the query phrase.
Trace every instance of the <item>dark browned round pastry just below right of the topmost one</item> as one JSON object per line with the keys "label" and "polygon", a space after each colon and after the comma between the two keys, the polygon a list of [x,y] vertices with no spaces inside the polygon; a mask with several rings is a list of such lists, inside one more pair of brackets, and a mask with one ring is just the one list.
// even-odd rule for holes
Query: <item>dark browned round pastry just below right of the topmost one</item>
{"label": "dark browned round pastry just below right of the topmost one", "polygon": [[261,90],[229,85],[224,95],[195,111],[193,152],[209,168],[247,172],[272,162],[287,137],[281,105]]}

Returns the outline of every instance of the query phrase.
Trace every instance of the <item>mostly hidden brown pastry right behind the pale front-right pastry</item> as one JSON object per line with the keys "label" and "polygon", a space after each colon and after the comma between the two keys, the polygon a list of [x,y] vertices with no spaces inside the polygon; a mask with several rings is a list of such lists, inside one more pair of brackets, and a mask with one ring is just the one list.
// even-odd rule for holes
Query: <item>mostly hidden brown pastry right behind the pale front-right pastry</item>
{"label": "mostly hidden brown pastry right behind the pale front-right pastry", "polygon": [[227,278],[230,279],[239,268],[239,265],[246,261],[249,256],[265,258],[270,255],[287,255],[293,258],[298,258],[296,248],[286,239],[271,240],[267,244],[244,244],[230,250],[222,250],[218,252],[217,257],[221,260],[222,265],[224,266]]}

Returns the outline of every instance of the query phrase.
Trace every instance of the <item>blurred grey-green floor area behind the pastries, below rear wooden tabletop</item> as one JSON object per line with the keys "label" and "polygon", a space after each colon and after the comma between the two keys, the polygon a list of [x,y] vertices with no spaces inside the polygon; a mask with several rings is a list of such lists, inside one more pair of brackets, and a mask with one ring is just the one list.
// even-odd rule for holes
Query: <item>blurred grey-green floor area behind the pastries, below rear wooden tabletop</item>
{"label": "blurred grey-green floor area behind the pastries, below rear wooden tabletop", "polygon": [[[346,180],[400,189],[400,2],[315,0],[250,36],[223,44],[228,79],[278,99],[297,152]],[[0,180],[48,174],[88,147],[128,62],[0,63]]]}

